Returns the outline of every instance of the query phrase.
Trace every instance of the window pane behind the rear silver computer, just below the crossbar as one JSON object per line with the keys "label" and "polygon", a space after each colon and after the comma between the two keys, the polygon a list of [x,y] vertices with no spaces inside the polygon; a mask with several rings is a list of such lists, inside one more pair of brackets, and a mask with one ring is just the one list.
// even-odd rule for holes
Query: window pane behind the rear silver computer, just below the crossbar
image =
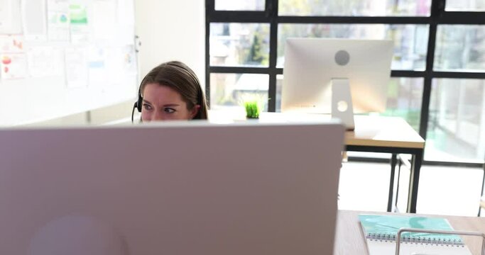
{"label": "window pane behind the rear silver computer, just below the crossbar", "polygon": [[[391,78],[389,82],[386,111],[378,113],[384,116],[396,116],[405,119],[419,132],[421,103],[423,100],[423,78]],[[283,75],[276,76],[276,111],[281,111],[281,88]],[[376,114],[376,113],[372,113]]]}

